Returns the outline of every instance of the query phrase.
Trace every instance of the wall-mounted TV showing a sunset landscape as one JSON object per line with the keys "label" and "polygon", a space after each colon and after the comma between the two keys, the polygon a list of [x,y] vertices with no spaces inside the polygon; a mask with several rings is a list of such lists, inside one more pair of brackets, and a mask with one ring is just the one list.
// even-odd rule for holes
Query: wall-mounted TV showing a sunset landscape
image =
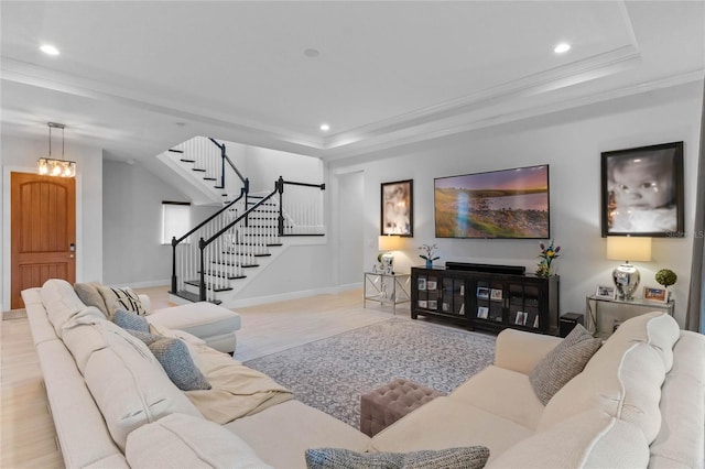
{"label": "wall-mounted TV showing a sunset landscape", "polygon": [[549,165],[434,179],[436,238],[549,239]]}

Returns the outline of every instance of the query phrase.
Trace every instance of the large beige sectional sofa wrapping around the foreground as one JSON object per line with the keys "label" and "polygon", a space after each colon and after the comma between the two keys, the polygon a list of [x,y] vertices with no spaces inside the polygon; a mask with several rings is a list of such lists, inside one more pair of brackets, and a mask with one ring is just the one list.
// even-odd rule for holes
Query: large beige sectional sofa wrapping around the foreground
{"label": "large beige sectional sofa wrapping around the foreground", "polygon": [[[494,366],[369,438],[198,339],[189,349],[214,389],[232,374],[242,391],[182,392],[70,285],[53,280],[22,295],[67,467],[300,468],[308,448],[471,445],[488,447],[496,468],[703,467],[705,338],[658,313],[623,323],[545,406],[529,374],[561,339],[505,330]],[[208,407],[210,394],[236,417]]]}

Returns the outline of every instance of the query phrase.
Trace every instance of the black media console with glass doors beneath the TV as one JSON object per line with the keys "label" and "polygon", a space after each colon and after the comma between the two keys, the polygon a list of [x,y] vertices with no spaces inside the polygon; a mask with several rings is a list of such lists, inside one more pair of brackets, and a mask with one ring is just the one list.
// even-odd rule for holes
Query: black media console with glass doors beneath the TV
{"label": "black media console with glass doors beneath the TV", "polygon": [[470,330],[498,332],[511,327],[557,335],[560,277],[540,277],[522,271],[514,266],[460,263],[412,268],[411,317],[444,317]]}

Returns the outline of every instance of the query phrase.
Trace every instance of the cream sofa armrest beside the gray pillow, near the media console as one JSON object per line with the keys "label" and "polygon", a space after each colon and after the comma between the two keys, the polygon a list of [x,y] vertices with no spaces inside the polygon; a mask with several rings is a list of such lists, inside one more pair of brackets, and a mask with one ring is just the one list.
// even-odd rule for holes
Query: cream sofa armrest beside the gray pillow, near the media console
{"label": "cream sofa armrest beside the gray pillow, near the media console", "polygon": [[561,337],[505,329],[497,336],[495,366],[529,374],[561,340]]}

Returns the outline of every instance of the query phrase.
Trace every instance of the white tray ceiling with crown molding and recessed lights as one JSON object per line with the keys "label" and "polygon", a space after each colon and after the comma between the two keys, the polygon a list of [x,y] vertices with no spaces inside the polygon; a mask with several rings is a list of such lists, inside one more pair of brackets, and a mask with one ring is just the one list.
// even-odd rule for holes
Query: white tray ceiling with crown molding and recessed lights
{"label": "white tray ceiling with crown molding and recessed lights", "polygon": [[67,146],[123,161],[194,135],[336,160],[705,73],[703,1],[2,1],[0,15],[2,134],[61,122]]}

